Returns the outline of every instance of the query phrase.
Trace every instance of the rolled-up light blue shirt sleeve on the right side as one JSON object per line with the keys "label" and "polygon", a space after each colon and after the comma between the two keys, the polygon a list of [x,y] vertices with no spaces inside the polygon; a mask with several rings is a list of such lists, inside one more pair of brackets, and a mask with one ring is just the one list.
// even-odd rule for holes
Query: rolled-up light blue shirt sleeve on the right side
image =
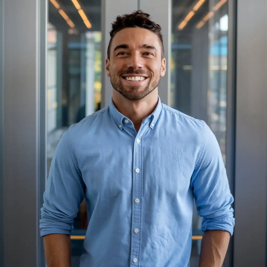
{"label": "rolled-up light blue shirt sleeve on the right side", "polygon": [[193,172],[191,186],[202,231],[224,230],[233,235],[235,219],[229,182],[217,139],[205,122],[205,142]]}

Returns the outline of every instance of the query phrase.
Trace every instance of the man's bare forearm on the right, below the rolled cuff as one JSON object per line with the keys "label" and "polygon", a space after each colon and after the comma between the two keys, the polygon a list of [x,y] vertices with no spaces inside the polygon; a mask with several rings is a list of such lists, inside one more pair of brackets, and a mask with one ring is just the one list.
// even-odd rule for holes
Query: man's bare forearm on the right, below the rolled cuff
{"label": "man's bare forearm on the right, below the rolled cuff", "polygon": [[199,267],[221,267],[229,240],[229,232],[220,230],[206,231],[201,242]]}

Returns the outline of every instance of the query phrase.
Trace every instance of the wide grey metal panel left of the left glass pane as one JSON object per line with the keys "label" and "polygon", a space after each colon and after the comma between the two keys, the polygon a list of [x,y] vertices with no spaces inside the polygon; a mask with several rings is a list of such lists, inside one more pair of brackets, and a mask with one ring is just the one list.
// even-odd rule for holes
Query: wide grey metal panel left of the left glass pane
{"label": "wide grey metal panel left of the left glass pane", "polygon": [[3,266],[38,264],[38,1],[5,1]]}

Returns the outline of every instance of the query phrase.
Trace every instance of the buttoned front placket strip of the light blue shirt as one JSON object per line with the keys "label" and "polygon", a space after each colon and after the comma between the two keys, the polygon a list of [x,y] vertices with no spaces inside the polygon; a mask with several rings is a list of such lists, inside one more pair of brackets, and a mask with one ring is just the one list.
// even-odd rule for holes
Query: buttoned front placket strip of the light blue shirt
{"label": "buttoned front placket strip of the light blue shirt", "polygon": [[142,234],[142,205],[143,205],[143,162],[142,136],[148,129],[142,125],[135,138],[133,147],[133,203],[132,203],[132,238],[131,238],[131,265],[140,266],[141,234]]}

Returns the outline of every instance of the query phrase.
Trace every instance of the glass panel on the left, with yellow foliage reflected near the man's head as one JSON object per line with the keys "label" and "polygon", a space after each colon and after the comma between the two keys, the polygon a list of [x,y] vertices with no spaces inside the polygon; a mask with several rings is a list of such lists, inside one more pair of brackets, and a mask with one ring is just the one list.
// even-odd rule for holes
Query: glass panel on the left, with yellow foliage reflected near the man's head
{"label": "glass panel on the left, with yellow foliage reflected near the man's head", "polygon": [[[101,1],[48,0],[47,167],[68,127],[100,109]],[[80,16],[79,9],[85,17]],[[81,13],[82,14],[82,13]],[[87,229],[83,202],[74,220],[73,235]],[[72,240],[72,267],[79,266],[83,240]]]}

